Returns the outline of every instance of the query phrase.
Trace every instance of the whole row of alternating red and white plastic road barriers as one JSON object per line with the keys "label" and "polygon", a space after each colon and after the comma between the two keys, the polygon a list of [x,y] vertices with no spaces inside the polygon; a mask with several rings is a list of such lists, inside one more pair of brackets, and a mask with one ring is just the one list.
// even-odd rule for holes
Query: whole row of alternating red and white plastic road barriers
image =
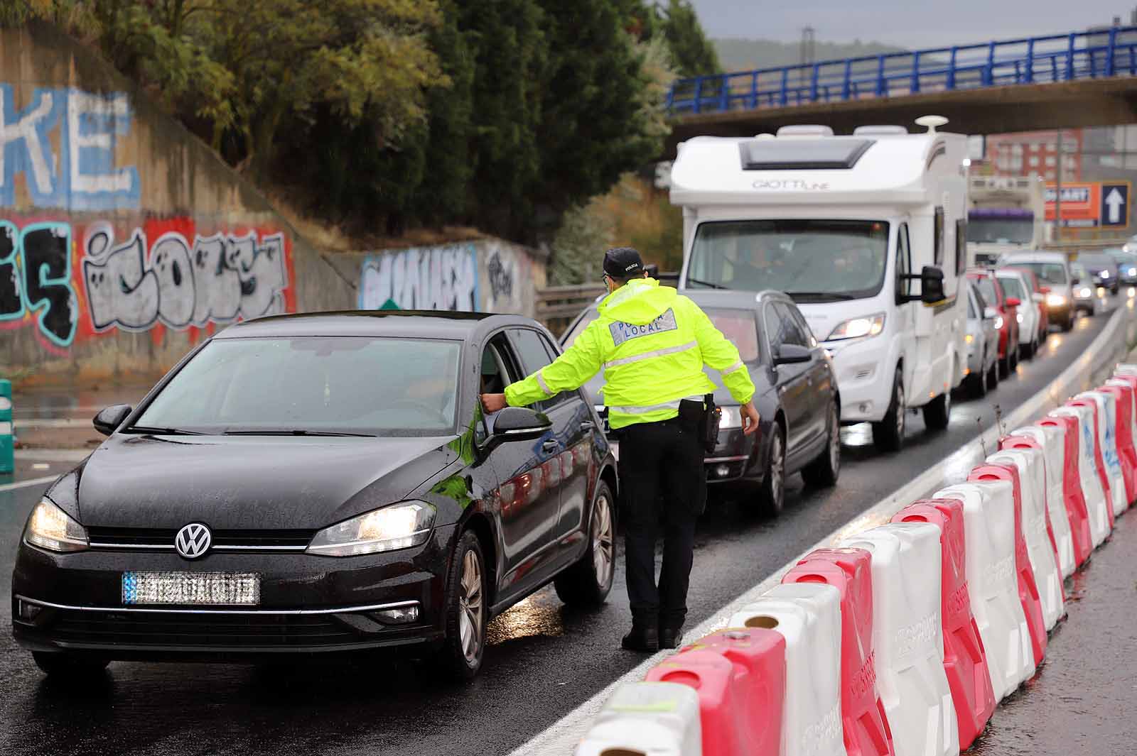
{"label": "whole row of alternating red and white plastic road barriers", "polygon": [[1119,364],[617,686],[575,753],[954,756],[1035,675],[1063,579],[1135,499],[1137,364]]}

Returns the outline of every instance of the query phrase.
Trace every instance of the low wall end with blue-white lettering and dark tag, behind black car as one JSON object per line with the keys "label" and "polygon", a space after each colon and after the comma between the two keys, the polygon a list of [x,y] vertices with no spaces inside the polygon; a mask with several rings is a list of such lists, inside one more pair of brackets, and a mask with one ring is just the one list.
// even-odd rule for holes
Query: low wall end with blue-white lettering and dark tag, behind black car
{"label": "low wall end with blue-white lettering and dark tag, behind black car", "polygon": [[359,308],[531,313],[534,283],[524,251],[489,240],[367,255]]}

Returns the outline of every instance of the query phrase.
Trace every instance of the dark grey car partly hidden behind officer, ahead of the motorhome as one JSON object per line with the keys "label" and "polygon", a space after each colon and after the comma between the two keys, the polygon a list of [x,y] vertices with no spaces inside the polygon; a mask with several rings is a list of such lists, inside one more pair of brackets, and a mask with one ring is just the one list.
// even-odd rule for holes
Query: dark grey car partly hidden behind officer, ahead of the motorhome
{"label": "dark grey car partly hidden behind officer, ahead of the motorhome", "polygon": [[[754,405],[761,417],[758,432],[744,436],[738,404],[725,388],[715,392],[722,418],[717,445],[704,461],[707,482],[740,490],[772,514],[785,506],[789,476],[800,472],[812,486],[836,484],[841,453],[836,372],[794,301],[780,292],[681,293],[738,347],[754,380]],[[595,304],[584,310],[562,344],[572,344],[597,317]],[[715,371],[705,371],[714,380]],[[597,405],[603,404],[603,375],[584,388]]]}

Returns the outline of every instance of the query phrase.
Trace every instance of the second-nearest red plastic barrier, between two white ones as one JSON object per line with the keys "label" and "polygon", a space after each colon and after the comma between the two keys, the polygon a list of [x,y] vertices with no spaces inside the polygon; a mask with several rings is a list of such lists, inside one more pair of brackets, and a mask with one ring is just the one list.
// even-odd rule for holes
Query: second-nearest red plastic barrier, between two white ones
{"label": "second-nearest red plastic barrier, between two white ones", "polygon": [[860,548],[819,548],[782,578],[841,593],[841,721],[848,756],[893,756],[893,734],[877,692],[872,644],[872,566]]}

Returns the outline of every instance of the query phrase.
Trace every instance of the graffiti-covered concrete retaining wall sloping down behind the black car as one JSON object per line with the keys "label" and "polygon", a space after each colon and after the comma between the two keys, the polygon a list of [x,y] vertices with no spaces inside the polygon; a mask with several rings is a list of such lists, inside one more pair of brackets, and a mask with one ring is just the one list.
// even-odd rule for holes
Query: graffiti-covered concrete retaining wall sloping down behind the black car
{"label": "graffiti-covered concrete retaining wall sloping down behind the black car", "polygon": [[97,54],[45,24],[0,30],[0,376],[149,380],[276,312],[532,314],[543,280],[496,240],[323,253]]}

